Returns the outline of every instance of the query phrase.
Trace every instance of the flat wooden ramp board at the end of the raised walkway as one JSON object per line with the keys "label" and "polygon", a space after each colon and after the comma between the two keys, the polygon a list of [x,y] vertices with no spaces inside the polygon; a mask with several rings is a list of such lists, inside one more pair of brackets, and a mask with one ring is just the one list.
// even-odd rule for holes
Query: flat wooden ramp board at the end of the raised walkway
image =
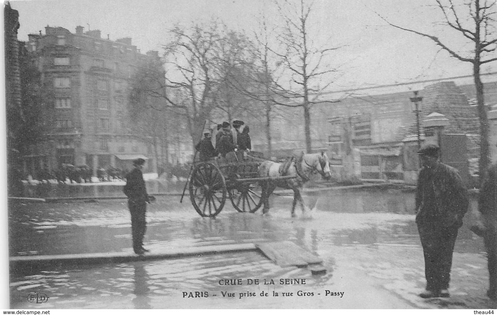
{"label": "flat wooden ramp board at the end of the raised walkway", "polygon": [[282,267],[307,266],[322,263],[319,256],[304,250],[293,242],[271,242],[255,244],[264,255]]}

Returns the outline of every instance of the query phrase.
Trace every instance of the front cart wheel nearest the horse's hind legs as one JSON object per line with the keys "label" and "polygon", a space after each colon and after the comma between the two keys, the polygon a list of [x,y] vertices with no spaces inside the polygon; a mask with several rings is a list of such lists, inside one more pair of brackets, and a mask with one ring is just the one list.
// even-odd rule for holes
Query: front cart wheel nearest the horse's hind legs
{"label": "front cart wheel nearest the horse's hind legs", "polygon": [[262,205],[260,186],[250,183],[229,189],[231,203],[238,212],[254,213]]}

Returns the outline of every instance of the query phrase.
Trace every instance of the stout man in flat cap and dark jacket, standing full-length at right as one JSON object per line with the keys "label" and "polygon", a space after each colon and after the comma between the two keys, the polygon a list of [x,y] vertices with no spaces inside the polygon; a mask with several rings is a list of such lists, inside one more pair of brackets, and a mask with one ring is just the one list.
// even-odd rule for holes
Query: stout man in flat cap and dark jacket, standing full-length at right
{"label": "stout man in flat cap and dark jacket, standing full-length at right", "polygon": [[421,170],[416,189],[416,225],[424,254],[426,290],[421,298],[449,297],[450,269],[457,232],[468,211],[468,193],[459,172],[439,161],[440,148],[419,151]]}

